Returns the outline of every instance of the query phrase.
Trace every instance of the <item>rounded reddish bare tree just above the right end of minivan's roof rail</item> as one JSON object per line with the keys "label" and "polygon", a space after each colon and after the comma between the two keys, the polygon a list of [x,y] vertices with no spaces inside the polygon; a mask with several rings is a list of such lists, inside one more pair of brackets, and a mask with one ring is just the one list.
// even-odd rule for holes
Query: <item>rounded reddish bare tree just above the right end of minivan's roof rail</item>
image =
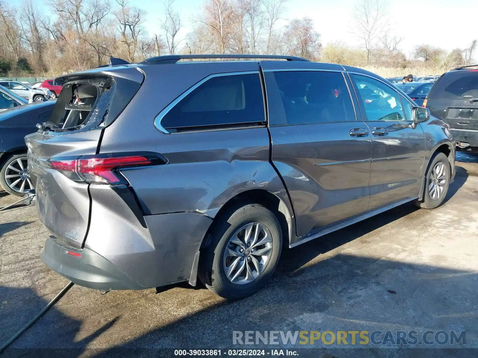
{"label": "rounded reddish bare tree just above the right end of minivan's roof rail", "polygon": [[287,25],[284,42],[287,53],[293,56],[316,60],[320,56],[320,35],[314,31],[312,19],[294,19]]}

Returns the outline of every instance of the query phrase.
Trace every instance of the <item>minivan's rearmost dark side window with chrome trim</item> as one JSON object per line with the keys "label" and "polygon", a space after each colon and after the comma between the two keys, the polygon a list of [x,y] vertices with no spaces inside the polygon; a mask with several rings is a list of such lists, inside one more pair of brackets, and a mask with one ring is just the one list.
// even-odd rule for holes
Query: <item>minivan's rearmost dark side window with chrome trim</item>
{"label": "minivan's rearmost dark side window with chrome trim", "polygon": [[166,113],[168,130],[265,122],[259,74],[216,76],[200,84]]}

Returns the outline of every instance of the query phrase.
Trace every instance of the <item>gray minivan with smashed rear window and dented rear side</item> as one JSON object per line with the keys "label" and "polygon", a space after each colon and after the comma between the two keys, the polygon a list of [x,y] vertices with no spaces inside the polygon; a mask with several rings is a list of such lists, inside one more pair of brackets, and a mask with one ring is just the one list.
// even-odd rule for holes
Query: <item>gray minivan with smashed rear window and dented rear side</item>
{"label": "gray minivan with smashed rear window and dented rear side", "polygon": [[25,138],[51,232],[42,260],[76,284],[199,277],[244,297],[283,248],[409,201],[436,208],[455,175],[449,126],[365,70],[268,55],[116,60],[60,77],[49,121]]}

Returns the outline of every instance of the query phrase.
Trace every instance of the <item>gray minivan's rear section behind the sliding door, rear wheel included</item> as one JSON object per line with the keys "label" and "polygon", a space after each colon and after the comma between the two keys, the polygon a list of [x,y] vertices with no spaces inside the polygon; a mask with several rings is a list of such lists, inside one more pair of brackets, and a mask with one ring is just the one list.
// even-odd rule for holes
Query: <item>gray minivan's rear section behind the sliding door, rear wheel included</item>
{"label": "gray minivan's rear section behind the sliding door, rear wheel included", "polygon": [[144,289],[199,277],[239,298],[267,282],[282,231],[293,232],[270,162],[260,64],[178,58],[61,77],[51,118],[25,138],[51,233],[42,260],[75,284]]}

